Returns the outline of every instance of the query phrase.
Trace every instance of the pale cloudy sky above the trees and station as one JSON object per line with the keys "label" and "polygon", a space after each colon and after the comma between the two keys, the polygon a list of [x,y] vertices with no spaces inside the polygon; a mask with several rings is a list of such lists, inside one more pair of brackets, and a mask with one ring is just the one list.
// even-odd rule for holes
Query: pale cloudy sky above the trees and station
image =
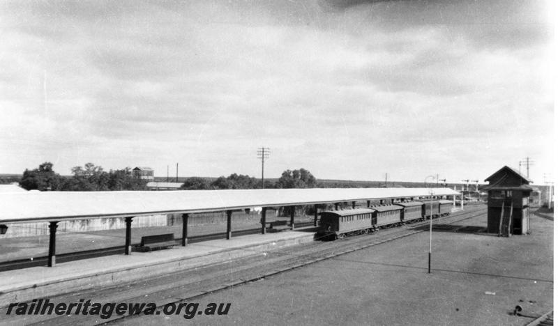
{"label": "pale cloudy sky above the trees and station", "polygon": [[[0,173],[553,173],[550,1],[0,0]],[[525,166],[522,172],[526,172]]]}

